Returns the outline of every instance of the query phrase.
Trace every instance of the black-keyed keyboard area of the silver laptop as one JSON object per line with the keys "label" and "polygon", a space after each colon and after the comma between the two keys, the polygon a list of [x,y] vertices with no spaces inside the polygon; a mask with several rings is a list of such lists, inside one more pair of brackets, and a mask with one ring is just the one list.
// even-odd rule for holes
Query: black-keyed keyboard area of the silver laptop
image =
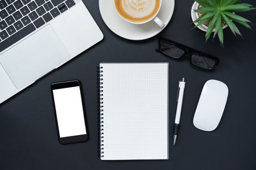
{"label": "black-keyed keyboard area of the silver laptop", "polygon": [[0,51],[74,5],[74,0],[0,0]]}

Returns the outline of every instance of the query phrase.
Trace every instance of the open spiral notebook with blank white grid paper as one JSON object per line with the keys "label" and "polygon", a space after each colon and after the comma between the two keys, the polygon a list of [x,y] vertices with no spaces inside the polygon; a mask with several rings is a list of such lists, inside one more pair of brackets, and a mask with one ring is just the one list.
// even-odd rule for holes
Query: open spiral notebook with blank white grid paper
{"label": "open spiral notebook with blank white grid paper", "polygon": [[100,63],[101,160],[169,159],[168,77],[168,63]]}

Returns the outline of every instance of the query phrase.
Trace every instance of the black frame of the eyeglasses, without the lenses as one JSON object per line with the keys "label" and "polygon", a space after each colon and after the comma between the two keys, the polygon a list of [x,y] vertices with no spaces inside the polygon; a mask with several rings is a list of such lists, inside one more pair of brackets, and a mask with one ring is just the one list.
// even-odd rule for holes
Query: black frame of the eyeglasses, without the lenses
{"label": "black frame of the eyeglasses, without the lenses", "polygon": [[[161,51],[161,44],[162,44],[163,41],[164,41],[164,42],[167,42],[167,43],[170,43],[171,45],[173,45],[173,46],[175,46],[175,47],[177,47],[177,48],[183,50],[183,51],[184,51],[184,54],[182,54],[182,56],[179,57],[179,58],[175,58],[175,57],[172,57],[172,56],[170,56],[170,55],[167,55],[166,53],[164,53],[163,51]],[[166,38],[163,38],[163,37],[161,37],[161,38],[159,39],[159,47],[158,47],[158,49],[156,49],[155,51],[156,51],[156,52],[161,52],[161,53],[163,53],[164,55],[166,55],[166,56],[168,56],[168,57],[171,57],[171,58],[173,58],[173,59],[177,59],[177,60],[183,58],[185,55],[189,55],[189,57],[190,57],[190,63],[191,63],[193,66],[197,67],[197,68],[201,68],[201,67],[196,66],[196,65],[194,65],[194,64],[192,63],[192,55],[193,55],[193,54],[195,54],[195,55],[201,55],[201,56],[203,56],[203,57],[207,57],[207,58],[213,59],[213,60],[215,61],[214,66],[213,66],[212,68],[201,68],[201,69],[205,69],[205,70],[213,70],[213,69],[215,68],[215,66],[219,63],[219,59],[218,59],[217,57],[213,56],[213,55],[204,53],[204,52],[202,52],[202,51],[197,51],[197,50],[195,50],[195,49],[193,49],[193,48],[191,48],[191,47],[185,46],[185,45],[183,45],[183,44],[177,43],[177,42],[175,42],[175,41],[171,41],[170,39],[166,39]]]}

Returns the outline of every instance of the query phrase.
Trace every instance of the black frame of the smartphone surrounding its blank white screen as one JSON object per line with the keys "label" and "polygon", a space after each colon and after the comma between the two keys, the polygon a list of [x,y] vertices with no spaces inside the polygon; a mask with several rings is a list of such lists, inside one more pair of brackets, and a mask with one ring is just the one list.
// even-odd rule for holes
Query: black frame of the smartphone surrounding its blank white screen
{"label": "black frame of the smartphone surrounding its blank white screen", "polygon": [[[86,134],[85,135],[77,135],[77,136],[60,137],[58,119],[57,119],[54,96],[53,96],[53,90],[68,88],[68,87],[76,87],[76,86],[80,87],[80,94],[81,94],[81,100],[82,100],[83,112],[84,112],[84,119],[85,119]],[[81,82],[79,80],[72,80],[72,81],[53,83],[51,85],[51,94],[52,94],[52,102],[53,102],[53,107],[54,107],[54,114],[55,114],[55,121],[56,121],[56,127],[57,127],[59,142],[61,144],[68,144],[68,143],[77,143],[77,142],[86,141],[89,138],[89,134],[88,134],[88,128],[87,128],[87,123],[86,123],[86,118],[85,118],[85,103],[84,103],[84,95],[83,95],[83,89],[82,89]]]}

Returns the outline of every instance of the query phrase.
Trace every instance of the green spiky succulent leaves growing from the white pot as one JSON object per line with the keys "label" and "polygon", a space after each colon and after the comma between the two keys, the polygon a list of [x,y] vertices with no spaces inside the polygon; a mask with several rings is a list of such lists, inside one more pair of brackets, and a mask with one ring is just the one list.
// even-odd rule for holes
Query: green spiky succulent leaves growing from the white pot
{"label": "green spiky succulent leaves growing from the white pot", "polygon": [[203,14],[198,19],[194,21],[194,23],[198,24],[196,27],[203,25],[209,22],[207,32],[205,34],[206,41],[210,38],[213,29],[215,28],[213,38],[216,34],[219,37],[220,43],[223,46],[223,30],[222,30],[222,22],[228,25],[233,34],[238,34],[242,36],[238,28],[236,27],[235,22],[244,25],[247,28],[251,28],[248,23],[251,23],[248,19],[244,17],[240,17],[236,15],[239,12],[245,12],[254,10],[252,5],[248,3],[240,3],[237,4],[240,0],[195,0],[197,3],[202,5],[202,8],[198,8],[194,10],[194,12]]}

